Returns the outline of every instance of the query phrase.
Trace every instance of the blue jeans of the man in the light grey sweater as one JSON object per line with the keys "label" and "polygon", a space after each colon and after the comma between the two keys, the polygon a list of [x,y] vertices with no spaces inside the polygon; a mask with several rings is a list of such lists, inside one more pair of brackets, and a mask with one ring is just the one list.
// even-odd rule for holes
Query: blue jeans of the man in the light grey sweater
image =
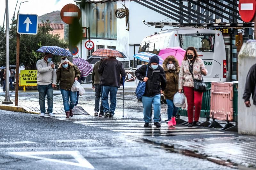
{"label": "blue jeans of the man in the light grey sweater", "polygon": [[45,96],[47,95],[47,113],[52,113],[53,107],[53,88],[52,84],[37,85],[39,92],[39,106],[41,113],[45,113]]}

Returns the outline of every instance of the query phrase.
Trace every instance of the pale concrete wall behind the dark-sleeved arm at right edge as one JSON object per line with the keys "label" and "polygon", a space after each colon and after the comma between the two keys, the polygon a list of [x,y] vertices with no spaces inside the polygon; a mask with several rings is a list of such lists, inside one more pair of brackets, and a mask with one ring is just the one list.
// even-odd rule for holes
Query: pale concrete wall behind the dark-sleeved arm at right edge
{"label": "pale concrete wall behind the dark-sleeved arm at right edge", "polygon": [[256,43],[251,45],[249,51],[248,43],[244,43],[238,55],[238,133],[256,135],[256,106],[253,105],[251,98],[251,107],[244,104],[243,93],[246,76],[249,69],[256,63]]}

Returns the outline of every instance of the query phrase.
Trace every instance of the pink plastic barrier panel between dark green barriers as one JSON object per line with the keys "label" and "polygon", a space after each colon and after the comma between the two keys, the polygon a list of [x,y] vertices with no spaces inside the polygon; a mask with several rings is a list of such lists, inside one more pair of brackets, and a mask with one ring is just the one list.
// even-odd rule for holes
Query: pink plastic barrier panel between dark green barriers
{"label": "pink plastic barrier panel between dark green barriers", "polygon": [[233,83],[212,82],[210,117],[233,120]]}

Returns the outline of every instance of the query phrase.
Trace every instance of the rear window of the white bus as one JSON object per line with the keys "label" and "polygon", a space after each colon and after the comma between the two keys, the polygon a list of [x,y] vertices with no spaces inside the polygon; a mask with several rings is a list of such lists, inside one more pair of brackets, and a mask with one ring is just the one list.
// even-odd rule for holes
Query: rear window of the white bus
{"label": "rear window of the white bus", "polygon": [[215,34],[192,33],[179,34],[180,46],[183,49],[195,47],[197,52],[213,52]]}

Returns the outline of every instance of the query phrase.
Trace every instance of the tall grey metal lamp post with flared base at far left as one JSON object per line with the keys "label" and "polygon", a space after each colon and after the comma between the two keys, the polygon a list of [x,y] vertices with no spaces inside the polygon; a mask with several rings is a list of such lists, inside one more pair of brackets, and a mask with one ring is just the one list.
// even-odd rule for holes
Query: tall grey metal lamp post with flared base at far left
{"label": "tall grey metal lamp post with flared base at far left", "polygon": [[5,59],[5,100],[2,104],[12,104],[10,100],[10,87],[9,87],[9,7],[8,7],[8,0],[5,0],[5,8],[6,8],[6,20],[5,20],[5,36],[6,36],[6,59]]}

